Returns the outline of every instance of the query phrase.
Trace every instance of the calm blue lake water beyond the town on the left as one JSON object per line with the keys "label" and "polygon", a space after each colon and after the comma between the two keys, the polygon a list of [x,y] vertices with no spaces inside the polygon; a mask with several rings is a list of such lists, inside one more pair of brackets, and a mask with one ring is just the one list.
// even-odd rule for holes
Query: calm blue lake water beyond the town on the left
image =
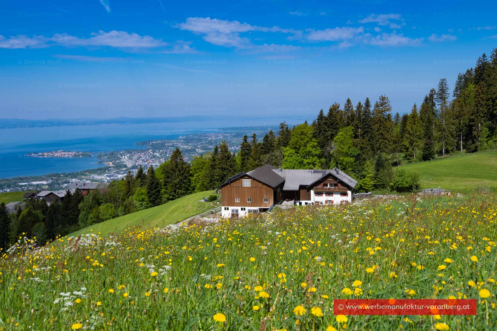
{"label": "calm blue lake water beyond the town on the left", "polygon": [[43,128],[0,129],[0,178],[71,172],[96,168],[96,157],[28,158],[27,153],[47,151],[104,152],[144,148],[139,141],[175,139],[179,136],[215,132],[220,127],[278,124],[278,119],[262,123],[236,121],[189,121],[175,123],[90,125]]}

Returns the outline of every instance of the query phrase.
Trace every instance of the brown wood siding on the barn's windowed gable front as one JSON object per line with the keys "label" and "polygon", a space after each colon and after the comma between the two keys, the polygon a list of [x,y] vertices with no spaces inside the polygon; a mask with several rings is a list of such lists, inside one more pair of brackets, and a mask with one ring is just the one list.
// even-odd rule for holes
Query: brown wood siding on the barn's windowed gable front
{"label": "brown wood siding on the barn's windowed gable front", "polygon": [[[274,203],[274,192],[271,187],[254,179],[250,179],[250,187],[244,187],[242,179],[243,177],[221,188],[223,206],[269,208]],[[240,198],[240,202],[236,202],[235,198]],[[247,202],[247,198],[252,199],[252,202]],[[264,202],[264,198],[267,198],[268,202]]]}

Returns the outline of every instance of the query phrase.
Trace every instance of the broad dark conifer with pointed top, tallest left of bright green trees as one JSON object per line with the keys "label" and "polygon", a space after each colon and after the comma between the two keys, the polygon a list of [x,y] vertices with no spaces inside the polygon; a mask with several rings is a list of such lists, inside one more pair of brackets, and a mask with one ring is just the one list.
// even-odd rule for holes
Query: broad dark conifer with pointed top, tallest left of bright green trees
{"label": "broad dark conifer with pointed top, tallest left of bright green trees", "polygon": [[176,148],[164,169],[164,192],[166,201],[174,200],[191,192],[190,165],[184,161]]}

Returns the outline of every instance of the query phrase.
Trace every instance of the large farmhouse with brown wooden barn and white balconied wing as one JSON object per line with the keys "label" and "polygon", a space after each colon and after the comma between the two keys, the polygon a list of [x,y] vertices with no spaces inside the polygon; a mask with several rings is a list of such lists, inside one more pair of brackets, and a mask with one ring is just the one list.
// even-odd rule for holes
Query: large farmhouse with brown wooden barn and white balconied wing
{"label": "large farmhouse with brown wooden barn and white balconied wing", "polygon": [[240,172],[221,185],[222,217],[265,212],[283,201],[295,205],[350,202],[356,184],[338,168],[282,169],[263,165]]}

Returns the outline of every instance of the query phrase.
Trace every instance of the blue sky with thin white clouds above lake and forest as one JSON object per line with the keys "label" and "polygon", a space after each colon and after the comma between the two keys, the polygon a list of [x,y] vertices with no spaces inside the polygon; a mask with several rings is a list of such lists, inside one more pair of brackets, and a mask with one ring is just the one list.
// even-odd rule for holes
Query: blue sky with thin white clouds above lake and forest
{"label": "blue sky with thin white clouds above lake and forest", "polygon": [[495,2],[325,2],[6,1],[0,118],[404,113],[497,46]]}

